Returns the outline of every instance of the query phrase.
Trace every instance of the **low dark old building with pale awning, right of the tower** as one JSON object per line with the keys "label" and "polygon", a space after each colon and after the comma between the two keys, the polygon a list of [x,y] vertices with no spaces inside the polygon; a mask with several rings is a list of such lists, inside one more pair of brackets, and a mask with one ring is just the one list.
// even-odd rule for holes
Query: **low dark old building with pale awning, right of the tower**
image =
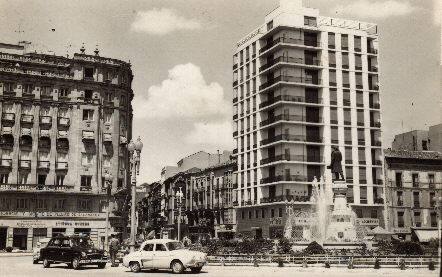
{"label": "low dark old building with pale awning, right of the tower", "polygon": [[437,238],[435,196],[442,196],[442,153],[385,150],[387,228],[399,238]]}

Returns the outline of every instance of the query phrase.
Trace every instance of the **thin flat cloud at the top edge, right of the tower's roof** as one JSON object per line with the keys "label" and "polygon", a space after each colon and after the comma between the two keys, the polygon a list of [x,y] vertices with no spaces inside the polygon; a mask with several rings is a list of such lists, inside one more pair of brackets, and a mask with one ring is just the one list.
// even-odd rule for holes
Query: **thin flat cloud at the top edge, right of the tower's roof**
{"label": "thin flat cloud at the top edge, right of the tower's roof", "polygon": [[387,18],[392,16],[404,16],[414,12],[417,8],[406,1],[369,1],[356,0],[347,5],[338,5],[334,12],[338,14],[354,15],[367,18]]}

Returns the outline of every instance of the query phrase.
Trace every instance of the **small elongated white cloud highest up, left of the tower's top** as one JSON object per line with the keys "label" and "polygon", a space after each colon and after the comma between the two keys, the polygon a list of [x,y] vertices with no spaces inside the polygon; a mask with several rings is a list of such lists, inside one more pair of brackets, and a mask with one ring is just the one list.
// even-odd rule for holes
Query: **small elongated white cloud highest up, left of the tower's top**
{"label": "small elongated white cloud highest up, left of the tower's top", "polygon": [[197,20],[184,18],[174,10],[166,8],[139,11],[131,25],[133,31],[151,35],[165,35],[178,30],[201,28],[201,23]]}

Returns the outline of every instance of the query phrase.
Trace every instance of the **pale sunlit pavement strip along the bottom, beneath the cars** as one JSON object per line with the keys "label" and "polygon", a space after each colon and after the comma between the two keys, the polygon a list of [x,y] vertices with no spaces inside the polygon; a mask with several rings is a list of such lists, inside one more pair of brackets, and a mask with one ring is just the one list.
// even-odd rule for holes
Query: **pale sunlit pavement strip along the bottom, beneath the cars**
{"label": "pale sunlit pavement strip along the bottom, beneath the cars", "polygon": [[[397,268],[381,268],[379,270],[372,268],[356,268],[347,269],[341,268],[324,268],[318,267],[276,267],[276,265],[267,265],[260,267],[252,266],[206,266],[200,274],[191,274],[186,272],[180,276],[201,276],[201,277],[313,277],[313,276],[356,276],[356,277],[371,277],[371,276],[392,276],[392,277],[433,277],[438,276],[438,268],[435,271],[430,271],[428,268],[417,268],[399,270]],[[70,276],[149,276],[149,277],[162,277],[162,276],[174,276],[168,271],[144,271],[141,273],[132,273],[127,268],[110,267],[105,269],[98,269],[96,267],[87,267],[81,270],[68,269],[65,265],[52,265],[50,268],[43,268],[43,265],[32,264],[32,257],[1,257],[0,256],[0,276],[1,277],[70,277]],[[176,275],[175,275],[176,276]]]}

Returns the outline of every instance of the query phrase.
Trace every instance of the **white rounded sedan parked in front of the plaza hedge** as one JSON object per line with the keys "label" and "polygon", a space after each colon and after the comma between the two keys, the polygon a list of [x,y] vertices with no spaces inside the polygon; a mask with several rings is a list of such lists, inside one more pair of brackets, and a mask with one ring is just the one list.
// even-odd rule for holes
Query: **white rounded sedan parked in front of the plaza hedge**
{"label": "white rounded sedan parked in front of the plaza hedge", "polygon": [[181,242],[170,239],[153,239],[143,242],[138,251],[123,257],[123,265],[132,272],[142,269],[172,269],[181,273],[189,268],[199,273],[206,264],[207,254],[184,249]]}

